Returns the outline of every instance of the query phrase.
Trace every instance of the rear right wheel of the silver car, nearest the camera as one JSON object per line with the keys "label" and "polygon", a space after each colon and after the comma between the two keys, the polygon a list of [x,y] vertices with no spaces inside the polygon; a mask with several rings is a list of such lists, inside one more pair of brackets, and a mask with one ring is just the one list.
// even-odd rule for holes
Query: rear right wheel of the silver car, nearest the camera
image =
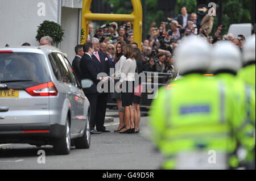
{"label": "rear right wheel of the silver car, nearest the camera", "polygon": [[61,138],[56,138],[53,144],[54,153],[57,155],[69,154],[71,150],[71,135],[69,118],[67,117],[65,134]]}

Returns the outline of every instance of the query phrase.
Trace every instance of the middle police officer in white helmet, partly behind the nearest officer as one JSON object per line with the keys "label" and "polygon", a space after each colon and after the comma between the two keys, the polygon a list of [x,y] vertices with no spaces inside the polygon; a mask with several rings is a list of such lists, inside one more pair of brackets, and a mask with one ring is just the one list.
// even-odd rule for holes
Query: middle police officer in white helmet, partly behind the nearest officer
{"label": "middle police officer in white helmet, partly behind the nearest officer", "polygon": [[[212,51],[213,61],[210,65],[210,71],[214,73],[214,78],[218,78],[225,83],[233,93],[236,100],[237,115],[234,117],[233,125],[235,126],[237,140],[242,145],[241,149],[247,151],[247,157],[242,159],[244,165],[246,162],[252,162],[255,158],[255,91],[250,88],[240,78],[237,78],[237,72],[242,66],[241,51],[229,41],[219,41],[214,45]],[[236,150],[237,152],[238,150]],[[230,158],[230,167],[235,169],[242,166],[234,152]]]}

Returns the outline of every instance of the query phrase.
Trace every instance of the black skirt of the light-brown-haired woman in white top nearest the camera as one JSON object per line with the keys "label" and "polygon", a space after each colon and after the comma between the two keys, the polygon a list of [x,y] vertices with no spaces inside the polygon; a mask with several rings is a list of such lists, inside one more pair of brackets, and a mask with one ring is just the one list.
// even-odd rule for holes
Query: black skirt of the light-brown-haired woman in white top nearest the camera
{"label": "black skirt of the light-brown-haired woman in white top nearest the camera", "polygon": [[124,81],[122,83],[122,106],[133,106],[134,81]]}

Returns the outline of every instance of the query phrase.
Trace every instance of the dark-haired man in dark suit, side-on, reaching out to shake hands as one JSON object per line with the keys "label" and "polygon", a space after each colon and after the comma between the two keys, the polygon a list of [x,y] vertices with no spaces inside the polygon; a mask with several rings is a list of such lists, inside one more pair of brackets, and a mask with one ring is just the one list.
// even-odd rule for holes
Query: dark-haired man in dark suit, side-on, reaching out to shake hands
{"label": "dark-haired man in dark suit, side-on, reaching out to shake hands", "polygon": [[80,61],[80,69],[82,79],[90,79],[93,81],[93,85],[88,89],[83,89],[84,94],[90,102],[90,133],[99,134],[101,132],[96,131],[95,125],[98,125],[98,115],[97,106],[98,106],[98,91],[97,84],[100,82],[97,79],[98,72],[101,71],[100,67],[96,65],[96,62],[92,60],[93,55],[93,45],[92,43],[84,44],[85,54],[82,56]]}

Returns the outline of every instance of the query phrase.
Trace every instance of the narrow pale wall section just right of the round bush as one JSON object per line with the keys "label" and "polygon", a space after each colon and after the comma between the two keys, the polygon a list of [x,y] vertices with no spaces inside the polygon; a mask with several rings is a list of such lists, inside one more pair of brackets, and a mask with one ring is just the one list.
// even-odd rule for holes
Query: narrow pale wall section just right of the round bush
{"label": "narrow pale wall section just right of the round bush", "polygon": [[71,63],[76,55],[75,47],[78,44],[79,19],[79,9],[62,7],[61,26],[64,30],[64,37],[60,43],[60,49],[68,54],[68,60]]}

